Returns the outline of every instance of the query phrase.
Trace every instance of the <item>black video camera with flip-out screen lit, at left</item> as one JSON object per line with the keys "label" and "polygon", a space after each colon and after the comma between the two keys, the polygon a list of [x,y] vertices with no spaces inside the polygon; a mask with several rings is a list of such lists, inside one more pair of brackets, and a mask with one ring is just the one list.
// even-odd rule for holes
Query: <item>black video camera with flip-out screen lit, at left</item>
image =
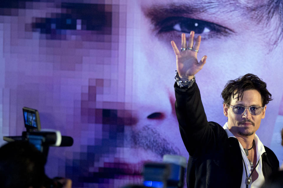
{"label": "black video camera with flip-out screen lit, at left", "polygon": [[[18,146],[26,146],[24,143],[29,142],[30,144],[34,145],[35,148],[30,155],[36,154],[40,151],[42,154],[38,155],[41,156],[40,161],[45,161],[47,159],[48,150],[50,146],[53,147],[63,147],[63,146],[72,146],[73,145],[73,138],[69,136],[62,136],[59,130],[51,130],[51,129],[41,129],[40,124],[40,117],[39,113],[36,109],[32,108],[23,108],[23,116],[24,116],[24,127],[26,131],[22,132],[21,136],[4,136],[3,140],[7,142],[15,142],[14,144]],[[14,149],[14,148],[13,148]],[[25,148],[26,151],[29,151],[29,147]],[[18,148],[19,153],[21,149]],[[38,150],[38,151],[37,151]],[[13,150],[12,150],[13,151]],[[17,153],[17,151],[15,151]],[[39,152],[38,152],[39,153]],[[15,157],[15,156],[13,156]],[[23,158],[27,157],[27,155],[23,155]],[[45,163],[44,163],[45,165]],[[60,188],[63,185],[58,181],[59,177],[50,179],[46,175],[41,176],[44,180],[44,187],[47,188]]]}

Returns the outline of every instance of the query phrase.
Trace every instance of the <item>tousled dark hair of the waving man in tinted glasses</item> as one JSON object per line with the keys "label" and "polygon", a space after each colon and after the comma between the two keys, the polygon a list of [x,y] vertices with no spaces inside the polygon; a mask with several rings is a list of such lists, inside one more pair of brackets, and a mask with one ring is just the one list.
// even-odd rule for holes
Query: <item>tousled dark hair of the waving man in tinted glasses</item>
{"label": "tousled dark hair of the waving man in tinted glasses", "polygon": [[250,89],[255,89],[260,93],[262,106],[272,100],[271,94],[266,89],[266,83],[254,74],[246,74],[226,83],[221,93],[223,103],[230,104],[231,96],[234,98],[237,94],[238,100],[240,97],[243,99],[243,92]]}

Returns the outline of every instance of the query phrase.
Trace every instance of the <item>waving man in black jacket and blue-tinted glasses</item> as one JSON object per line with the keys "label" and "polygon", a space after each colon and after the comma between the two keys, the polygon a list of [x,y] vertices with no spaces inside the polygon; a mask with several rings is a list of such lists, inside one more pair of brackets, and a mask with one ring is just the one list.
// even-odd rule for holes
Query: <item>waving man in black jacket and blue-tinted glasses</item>
{"label": "waving man in black jacket and blue-tinted glasses", "polygon": [[185,33],[182,34],[181,51],[171,42],[177,58],[176,115],[190,155],[187,186],[259,187],[279,168],[276,155],[256,135],[265,117],[266,104],[272,100],[271,94],[256,75],[230,80],[221,94],[228,122],[224,127],[208,122],[195,82],[207,56],[198,62],[201,37],[197,37],[193,46],[194,34],[191,31],[188,45]]}

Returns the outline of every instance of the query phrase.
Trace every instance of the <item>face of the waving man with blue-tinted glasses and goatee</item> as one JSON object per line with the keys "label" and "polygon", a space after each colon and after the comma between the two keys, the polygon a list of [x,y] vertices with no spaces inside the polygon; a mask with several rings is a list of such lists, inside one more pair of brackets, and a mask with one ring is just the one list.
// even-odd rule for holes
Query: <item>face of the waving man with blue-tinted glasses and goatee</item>
{"label": "face of the waving man with blue-tinted glasses and goatee", "polygon": [[[243,92],[241,96],[231,97],[231,106],[262,106],[261,95],[257,90],[251,89]],[[243,114],[237,115],[233,112],[233,108],[227,104],[223,104],[224,115],[228,117],[228,128],[236,137],[254,135],[259,129],[261,119],[265,116],[266,106],[259,115],[251,115],[249,108],[246,108]]]}

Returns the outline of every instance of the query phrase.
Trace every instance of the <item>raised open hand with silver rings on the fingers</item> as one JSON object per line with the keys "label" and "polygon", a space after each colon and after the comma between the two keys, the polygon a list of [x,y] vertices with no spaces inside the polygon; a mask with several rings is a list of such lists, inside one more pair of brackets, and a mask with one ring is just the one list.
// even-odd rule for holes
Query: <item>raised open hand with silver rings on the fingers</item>
{"label": "raised open hand with silver rings on the fingers", "polygon": [[191,31],[187,45],[185,33],[182,33],[182,48],[187,49],[185,51],[179,51],[175,42],[171,41],[171,45],[176,54],[177,71],[180,78],[184,80],[191,80],[193,76],[203,68],[203,65],[205,64],[207,58],[207,56],[203,56],[200,62],[198,62],[197,51],[200,47],[201,36],[199,35],[197,37],[195,46],[193,46],[194,35],[195,32]]}

